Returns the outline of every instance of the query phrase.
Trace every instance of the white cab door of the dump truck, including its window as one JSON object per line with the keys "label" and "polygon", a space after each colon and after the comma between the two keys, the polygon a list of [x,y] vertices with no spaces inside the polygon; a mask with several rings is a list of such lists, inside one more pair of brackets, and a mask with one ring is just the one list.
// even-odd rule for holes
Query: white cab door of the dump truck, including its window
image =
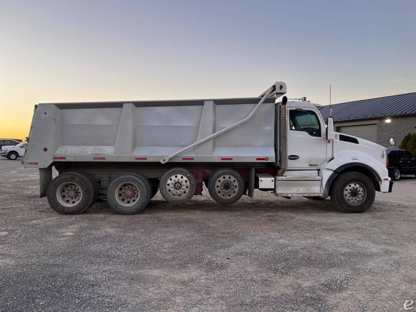
{"label": "white cab door of the dump truck, including its window", "polygon": [[317,169],[327,158],[321,115],[308,107],[288,107],[287,168]]}

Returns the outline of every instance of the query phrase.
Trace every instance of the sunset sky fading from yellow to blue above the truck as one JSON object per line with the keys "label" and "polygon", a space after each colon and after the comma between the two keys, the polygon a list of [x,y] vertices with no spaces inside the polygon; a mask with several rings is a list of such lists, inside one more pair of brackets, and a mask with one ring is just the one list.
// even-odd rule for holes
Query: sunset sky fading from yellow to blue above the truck
{"label": "sunset sky fading from yellow to blue above the truck", "polygon": [[0,0],[0,137],[37,103],[416,92],[416,1]]}

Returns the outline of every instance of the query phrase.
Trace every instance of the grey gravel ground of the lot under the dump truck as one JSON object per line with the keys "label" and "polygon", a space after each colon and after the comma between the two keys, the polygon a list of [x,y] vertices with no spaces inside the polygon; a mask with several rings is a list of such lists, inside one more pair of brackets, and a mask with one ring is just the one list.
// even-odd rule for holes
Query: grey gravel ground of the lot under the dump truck
{"label": "grey gravel ground of the lot under the dump truck", "polygon": [[[0,157],[0,311],[404,311],[416,301],[416,179],[366,213],[256,192],[221,206],[158,194],[54,213],[38,171]],[[416,310],[416,309],[415,309]]]}

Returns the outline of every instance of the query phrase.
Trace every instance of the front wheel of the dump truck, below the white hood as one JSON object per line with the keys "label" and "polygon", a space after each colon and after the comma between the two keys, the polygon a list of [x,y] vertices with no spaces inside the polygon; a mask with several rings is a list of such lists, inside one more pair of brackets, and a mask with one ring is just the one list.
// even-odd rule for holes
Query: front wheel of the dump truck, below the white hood
{"label": "front wheel of the dump truck, below the white hood", "polygon": [[358,172],[339,175],[330,190],[331,201],[344,213],[362,213],[374,203],[376,189],[369,177]]}

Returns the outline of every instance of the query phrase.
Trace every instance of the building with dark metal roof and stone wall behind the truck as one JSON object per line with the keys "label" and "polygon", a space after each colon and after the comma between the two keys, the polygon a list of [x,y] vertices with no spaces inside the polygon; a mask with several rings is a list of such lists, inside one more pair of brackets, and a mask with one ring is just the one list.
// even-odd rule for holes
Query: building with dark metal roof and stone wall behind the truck
{"label": "building with dark metal roof and stone wall behind the truck", "polygon": [[[331,105],[338,132],[362,137],[389,147],[389,139],[399,146],[403,137],[416,131],[416,92]],[[329,117],[329,105],[321,114]]]}

